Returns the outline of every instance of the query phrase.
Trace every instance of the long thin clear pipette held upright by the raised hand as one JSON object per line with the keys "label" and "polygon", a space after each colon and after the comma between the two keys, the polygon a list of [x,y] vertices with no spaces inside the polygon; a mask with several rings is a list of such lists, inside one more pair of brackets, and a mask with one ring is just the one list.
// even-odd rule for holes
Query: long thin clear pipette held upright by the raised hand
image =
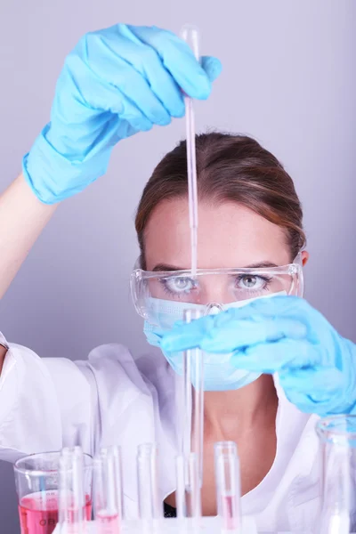
{"label": "long thin clear pipette held upright by the raised hand", "polygon": [[[182,27],[182,39],[190,46],[195,58],[199,61],[198,28],[190,24]],[[187,137],[187,169],[188,169],[188,200],[190,214],[190,250],[191,273],[197,274],[198,263],[198,187],[197,158],[195,150],[195,117],[192,99],[185,95],[185,120]]]}

